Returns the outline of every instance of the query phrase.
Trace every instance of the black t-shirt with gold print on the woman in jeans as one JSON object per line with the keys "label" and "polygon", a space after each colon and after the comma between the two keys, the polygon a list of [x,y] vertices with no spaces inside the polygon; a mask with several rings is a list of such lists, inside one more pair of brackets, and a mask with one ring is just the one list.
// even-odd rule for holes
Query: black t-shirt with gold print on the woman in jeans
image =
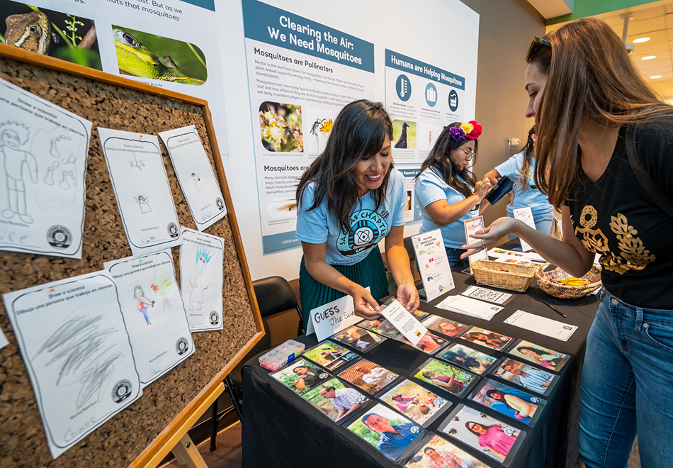
{"label": "black t-shirt with gold print on the woman in jeans", "polygon": [[[621,128],[605,172],[590,181],[580,170],[568,201],[579,241],[601,254],[603,284],[622,301],[673,309],[673,218],[643,191],[626,158]],[[647,173],[673,199],[673,120],[639,126],[636,151]]]}

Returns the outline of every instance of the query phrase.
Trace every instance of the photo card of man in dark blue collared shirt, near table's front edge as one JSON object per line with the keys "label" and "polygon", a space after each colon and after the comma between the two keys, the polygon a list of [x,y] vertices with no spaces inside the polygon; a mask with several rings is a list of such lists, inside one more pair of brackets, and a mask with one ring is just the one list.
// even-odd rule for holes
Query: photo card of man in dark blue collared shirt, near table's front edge
{"label": "photo card of man in dark blue collared shirt, near table's front edge", "polygon": [[423,432],[419,425],[382,403],[368,408],[363,416],[344,426],[392,460],[407,455]]}

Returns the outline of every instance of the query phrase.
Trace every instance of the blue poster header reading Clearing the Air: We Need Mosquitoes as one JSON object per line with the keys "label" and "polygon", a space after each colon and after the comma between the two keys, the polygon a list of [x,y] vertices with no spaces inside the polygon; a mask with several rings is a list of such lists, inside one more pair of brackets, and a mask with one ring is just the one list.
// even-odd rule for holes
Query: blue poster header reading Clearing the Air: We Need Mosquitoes
{"label": "blue poster header reading Clearing the Air: We Need Mosquitoes", "polygon": [[[374,72],[372,43],[264,2],[243,0],[243,26],[246,38]],[[269,52],[260,53],[268,56]],[[327,71],[315,63],[307,65]]]}

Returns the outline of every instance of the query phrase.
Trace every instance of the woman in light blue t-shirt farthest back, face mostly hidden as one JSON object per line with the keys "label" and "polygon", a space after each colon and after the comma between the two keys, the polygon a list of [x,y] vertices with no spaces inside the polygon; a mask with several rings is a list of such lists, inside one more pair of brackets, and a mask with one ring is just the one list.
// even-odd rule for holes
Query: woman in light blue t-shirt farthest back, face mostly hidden
{"label": "woman in light blue t-shirt farthest back, face mostly hidden", "polygon": [[[501,165],[486,173],[491,184],[496,184],[501,177],[509,176],[514,181],[514,189],[509,193],[507,216],[514,218],[514,209],[531,207],[535,228],[541,233],[549,234],[554,222],[554,207],[549,204],[547,196],[535,185],[535,126],[528,131],[528,141],[521,152],[509,158]],[[514,197],[514,200],[512,200]],[[510,239],[516,235],[510,234]]]}

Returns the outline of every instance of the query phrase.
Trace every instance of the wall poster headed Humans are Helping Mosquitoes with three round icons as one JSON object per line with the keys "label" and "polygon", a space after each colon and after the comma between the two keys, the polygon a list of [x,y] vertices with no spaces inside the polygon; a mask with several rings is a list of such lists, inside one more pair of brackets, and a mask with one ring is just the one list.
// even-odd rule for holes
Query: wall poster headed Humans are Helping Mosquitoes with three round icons
{"label": "wall poster headed Humans are Helping Mosquitoes with three round icons", "polygon": [[465,112],[465,78],[385,50],[385,107],[392,118],[395,162],[423,162],[437,137]]}

